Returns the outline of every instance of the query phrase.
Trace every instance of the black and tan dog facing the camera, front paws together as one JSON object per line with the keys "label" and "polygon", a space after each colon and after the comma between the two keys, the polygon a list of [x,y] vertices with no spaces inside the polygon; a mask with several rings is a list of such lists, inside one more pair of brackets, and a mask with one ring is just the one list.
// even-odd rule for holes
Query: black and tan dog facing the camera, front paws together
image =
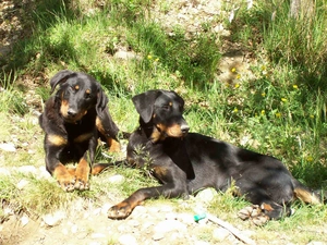
{"label": "black and tan dog facing the camera, front paws together", "polygon": [[[39,124],[45,131],[47,170],[64,191],[88,189],[88,179],[95,159],[98,138],[105,139],[110,151],[118,151],[119,128],[109,113],[108,97],[92,76],[68,70],[50,81],[55,96],[45,105]],[[76,169],[66,169],[78,162]],[[97,173],[95,169],[93,173]]]}

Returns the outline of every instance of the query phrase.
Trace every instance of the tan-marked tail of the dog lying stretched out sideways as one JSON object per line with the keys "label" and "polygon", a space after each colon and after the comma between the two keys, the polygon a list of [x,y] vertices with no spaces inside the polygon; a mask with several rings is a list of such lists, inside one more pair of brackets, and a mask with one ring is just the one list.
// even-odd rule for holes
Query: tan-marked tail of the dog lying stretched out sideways
{"label": "tan-marked tail of the dog lying stretched out sideways", "polygon": [[308,187],[306,187],[295,179],[293,179],[293,185],[294,185],[294,197],[306,204],[312,204],[312,205],[323,204],[327,198],[326,192],[311,191]]}

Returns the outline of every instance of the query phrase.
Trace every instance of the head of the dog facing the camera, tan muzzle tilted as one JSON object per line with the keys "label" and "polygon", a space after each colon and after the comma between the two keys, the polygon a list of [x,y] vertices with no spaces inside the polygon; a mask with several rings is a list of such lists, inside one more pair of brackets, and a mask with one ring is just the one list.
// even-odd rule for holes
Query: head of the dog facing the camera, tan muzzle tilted
{"label": "head of the dog facing the camera, tan muzzle tilted", "polygon": [[92,108],[100,115],[107,107],[108,97],[100,84],[85,73],[60,71],[50,79],[51,94],[58,85],[56,102],[65,122],[76,123]]}

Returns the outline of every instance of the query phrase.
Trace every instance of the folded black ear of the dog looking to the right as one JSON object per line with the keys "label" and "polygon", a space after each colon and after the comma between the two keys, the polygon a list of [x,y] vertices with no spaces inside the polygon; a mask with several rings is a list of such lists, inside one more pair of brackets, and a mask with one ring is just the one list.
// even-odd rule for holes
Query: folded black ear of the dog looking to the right
{"label": "folded black ear of the dog looking to the right", "polygon": [[132,98],[137,113],[141,115],[145,123],[148,123],[150,121],[154,113],[155,100],[156,98],[158,98],[160,93],[160,90],[148,90]]}

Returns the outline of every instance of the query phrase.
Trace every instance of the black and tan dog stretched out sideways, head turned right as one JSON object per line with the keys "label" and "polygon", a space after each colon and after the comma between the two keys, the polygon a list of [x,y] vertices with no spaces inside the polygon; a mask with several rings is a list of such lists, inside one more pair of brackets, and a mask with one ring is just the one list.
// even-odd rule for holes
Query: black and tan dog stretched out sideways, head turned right
{"label": "black and tan dog stretched out sideways, head turned right", "polygon": [[[232,185],[235,195],[254,204],[240,217],[256,219],[257,224],[289,215],[294,198],[319,203],[318,196],[296,181],[279,160],[189,133],[182,117],[184,101],[174,91],[149,90],[133,97],[133,102],[140,127],[130,137],[128,160],[138,167],[149,164],[162,185],[136,191],[111,207],[109,218],[126,218],[147,198],[187,197],[204,187],[225,192]],[[144,160],[148,159],[146,155],[149,162]]]}

